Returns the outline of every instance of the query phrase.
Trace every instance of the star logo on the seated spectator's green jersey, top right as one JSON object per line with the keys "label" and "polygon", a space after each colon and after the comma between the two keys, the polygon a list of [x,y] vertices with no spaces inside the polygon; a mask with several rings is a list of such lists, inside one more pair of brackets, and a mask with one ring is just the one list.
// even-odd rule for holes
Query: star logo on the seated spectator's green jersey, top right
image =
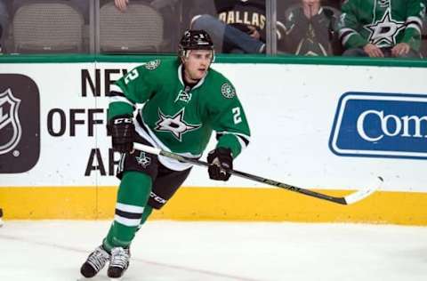
{"label": "star logo on the seated spectator's green jersey, top right", "polygon": [[393,20],[390,9],[383,14],[383,19],[375,23],[366,25],[365,28],[370,35],[368,41],[380,47],[391,46],[396,44],[396,36],[400,29],[405,28],[404,21]]}

